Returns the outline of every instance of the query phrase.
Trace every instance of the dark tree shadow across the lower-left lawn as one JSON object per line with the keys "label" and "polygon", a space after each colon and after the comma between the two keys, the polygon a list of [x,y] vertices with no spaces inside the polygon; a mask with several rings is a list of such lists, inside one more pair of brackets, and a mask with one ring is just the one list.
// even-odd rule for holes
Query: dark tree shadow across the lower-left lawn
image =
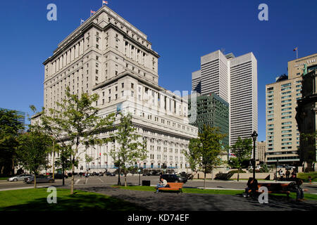
{"label": "dark tree shadow across the lower-left lawn", "polygon": [[57,197],[57,203],[47,203],[46,198],[37,198],[22,205],[2,207],[0,211],[144,211],[133,203],[106,195],[67,195]]}

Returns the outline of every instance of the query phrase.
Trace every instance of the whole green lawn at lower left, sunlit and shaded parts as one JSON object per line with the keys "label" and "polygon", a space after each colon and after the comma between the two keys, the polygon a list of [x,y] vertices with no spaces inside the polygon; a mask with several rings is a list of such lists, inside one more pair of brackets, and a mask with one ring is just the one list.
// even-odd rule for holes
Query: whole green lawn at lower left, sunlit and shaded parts
{"label": "whole green lawn at lower left, sunlit and shaded parts", "polygon": [[107,195],[57,189],[57,203],[47,203],[46,188],[0,191],[0,211],[144,211],[144,208]]}

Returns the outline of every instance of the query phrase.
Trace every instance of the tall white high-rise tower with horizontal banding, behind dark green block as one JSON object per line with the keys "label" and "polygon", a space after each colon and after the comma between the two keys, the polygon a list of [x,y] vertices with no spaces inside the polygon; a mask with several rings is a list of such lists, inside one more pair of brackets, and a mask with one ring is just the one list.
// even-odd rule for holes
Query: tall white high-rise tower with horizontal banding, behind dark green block
{"label": "tall white high-rise tower with horizontal banding, behind dark green block", "polygon": [[253,53],[235,57],[218,50],[201,56],[201,70],[192,73],[192,91],[213,92],[229,103],[230,146],[238,137],[251,138],[252,132],[258,131],[257,61]]}

